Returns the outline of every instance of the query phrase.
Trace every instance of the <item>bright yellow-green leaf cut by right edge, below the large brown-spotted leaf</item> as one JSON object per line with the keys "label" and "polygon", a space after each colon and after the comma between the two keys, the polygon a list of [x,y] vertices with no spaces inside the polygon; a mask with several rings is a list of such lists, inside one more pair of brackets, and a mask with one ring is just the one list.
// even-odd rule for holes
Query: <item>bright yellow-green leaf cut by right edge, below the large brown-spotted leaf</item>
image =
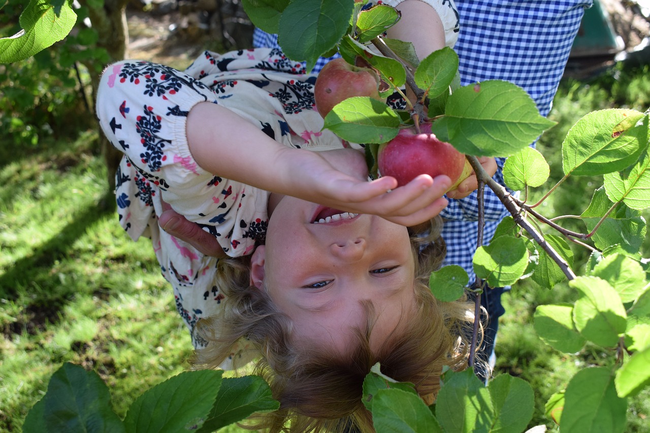
{"label": "bright yellow-green leaf cut by right edge, below the large brown-spotted leaf", "polygon": [[612,202],[620,202],[632,209],[650,207],[650,150],[643,150],[636,164],[622,172],[604,176],[605,192]]}

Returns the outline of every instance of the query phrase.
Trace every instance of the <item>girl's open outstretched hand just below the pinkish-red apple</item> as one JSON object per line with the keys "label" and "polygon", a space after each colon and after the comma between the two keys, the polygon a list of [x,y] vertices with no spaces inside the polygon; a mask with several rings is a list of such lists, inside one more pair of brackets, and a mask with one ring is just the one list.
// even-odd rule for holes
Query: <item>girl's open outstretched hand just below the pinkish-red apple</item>
{"label": "girl's open outstretched hand just below the pinkish-red apple", "polygon": [[324,152],[285,148],[281,161],[291,161],[284,173],[286,194],[341,211],[378,215],[396,224],[414,226],[438,215],[447,205],[443,197],[448,176],[423,174],[397,187],[394,177],[367,181],[367,166],[360,151]]}

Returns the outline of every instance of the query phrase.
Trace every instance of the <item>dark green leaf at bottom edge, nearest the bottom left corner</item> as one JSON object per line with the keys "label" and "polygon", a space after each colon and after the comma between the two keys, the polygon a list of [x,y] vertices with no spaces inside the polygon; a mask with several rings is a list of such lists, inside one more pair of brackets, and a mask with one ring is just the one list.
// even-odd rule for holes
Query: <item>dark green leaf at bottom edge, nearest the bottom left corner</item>
{"label": "dark green leaf at bottom edge, nearest the bottom left corner", "polygon": [[94,371],[64,363],[55,371],[43,397],[44,417],[51,432],[123,432],[110,407],[109,388]]}

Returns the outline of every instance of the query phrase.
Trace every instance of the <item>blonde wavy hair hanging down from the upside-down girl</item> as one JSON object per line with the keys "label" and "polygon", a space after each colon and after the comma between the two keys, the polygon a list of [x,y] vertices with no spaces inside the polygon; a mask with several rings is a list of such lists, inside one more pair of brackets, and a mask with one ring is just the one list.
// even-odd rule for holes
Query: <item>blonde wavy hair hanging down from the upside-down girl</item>
{"label": "blonde wavy hair hanging down from the upside-down girl", "polygon": [[431,272],[445,257],[441,225],[441,219],[434,218],[409,228],[415,306],[402,314],[376,350],[370,349],[376,319],[372,302],[363,302],[368,319],[365,328],[355,330],[356,344],[335,356],[329,347],[305,347],[292,339],[291,319],[278,311],[265,290],[250,285],[250,261],[226,259],[220,261],[218,272],[218,284],[226,294],[224,313],[198,322],[198,334],[208,345],[196,350],[192,365],[216,369],[231,355],[231,347],[246,339],[260,355],[253,374],[265,378],[280,402],[279,410],[259,415],[249,428],[270,432],[374,432],[372,415],[361,397],[363,380],[378,362],[383,374],[412,382],[422,399],[431,403],[443,366],[466,367],[466,335],[473,321],[472,306],[465,298],[440,302],[428,287]]}

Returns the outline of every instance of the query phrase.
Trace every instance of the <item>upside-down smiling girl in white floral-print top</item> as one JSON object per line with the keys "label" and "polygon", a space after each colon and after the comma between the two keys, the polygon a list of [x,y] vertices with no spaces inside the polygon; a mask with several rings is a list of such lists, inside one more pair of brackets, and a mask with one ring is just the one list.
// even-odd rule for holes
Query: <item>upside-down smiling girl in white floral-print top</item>
{"label": "upside-down smiling girl in white floral-print top", "polygon": [[[374,363],[431,400],[443,365],[464,362],[467,306],[428,290],[450,179],[367,181],[361,146],[322,131],[315,76],[302,72],[278,49],[206,52],[185,72],[119,62],[97,112],[125,153],[120,224],[151,238],[196,365],[261,356],[281,402],[261,424],[272,430],[287,419],[293,431],[370,428],[361,382]],[[211,233],[222,259],[159,230],[165,202]]]}

